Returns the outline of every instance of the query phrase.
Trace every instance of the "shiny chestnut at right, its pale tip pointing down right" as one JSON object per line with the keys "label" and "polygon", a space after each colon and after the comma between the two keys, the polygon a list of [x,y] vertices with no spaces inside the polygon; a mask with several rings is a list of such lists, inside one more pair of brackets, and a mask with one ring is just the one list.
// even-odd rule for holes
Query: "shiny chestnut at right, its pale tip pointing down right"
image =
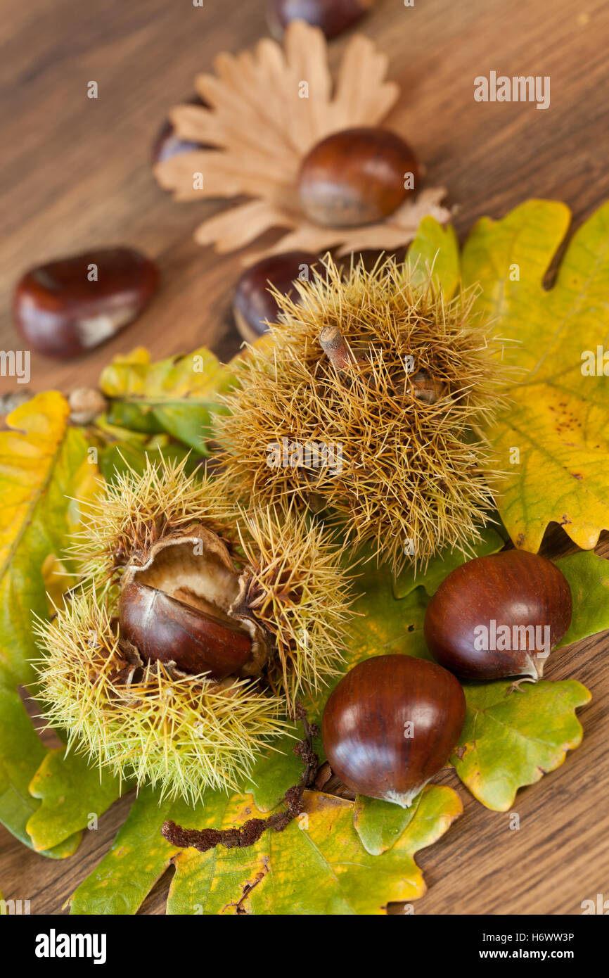
{"label": "shiny chestnut at right, its pale tip pointing down right", "polygon": [[480,556],[453,570],[427,605],[425,641],[465,679],[540,679],[571,623],[571,589],[551,560],[527,551]]}

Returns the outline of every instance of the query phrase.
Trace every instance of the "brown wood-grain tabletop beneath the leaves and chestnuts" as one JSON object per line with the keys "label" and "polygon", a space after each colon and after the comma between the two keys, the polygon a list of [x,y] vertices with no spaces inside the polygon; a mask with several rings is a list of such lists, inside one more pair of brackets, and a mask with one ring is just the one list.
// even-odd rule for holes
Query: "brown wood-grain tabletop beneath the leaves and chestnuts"
{"label": "brown wood-grain tabletop beneath the leaves and chestnuts", "polygon": [[[234,353],[238,259],[192,241],[216,204],[169,200],[152,179],[150,147],[166,111],[191,93],[216,52],[236,52],[266,32],[263,0],[205,0],[203,8],[190,0],[3,0],[2,12],[0,307],[10,308],[27,266],[89,245],[141,247],[163,277],[145,315],[101,350],[69,364],[32,356],[32,388],[95,383],[112,355],[138,344],[153,357],[201,343]],[[393,124],[425,161],[429,181],[450,189],[459,236],[481,215],[500,217],[525,198],[565,200],[579,225],[609,197],[604,0],[415,0],[413,8],[380,0],[362,29],[391,57],[403,87]],[[474,102],[474,77],[491,70],[549,75],[550,109]],[[86,97],[92,79],[97,101]],[[20,348],[8,313],[0,346]],[[13,382],[0,385],[5,392]],[[568,550],[562,531],[546,543],[552,555]],[[429,891],[416,913],[579,913],[583,900],[609,896],[607,645],[588,639],[552,660],[552,679],[575,677],[592,691],[581,712],[586,736],[562,768],[519,792],[518,831],[452,773],[442,776],[465,812],[418,857]],[[35,856],[0,827],[4,897],[30,899],[33,913],[61,912],[129,803],[118,802],[61,863]],[[163,912],[167,884],[157,884],[144,912]]]}

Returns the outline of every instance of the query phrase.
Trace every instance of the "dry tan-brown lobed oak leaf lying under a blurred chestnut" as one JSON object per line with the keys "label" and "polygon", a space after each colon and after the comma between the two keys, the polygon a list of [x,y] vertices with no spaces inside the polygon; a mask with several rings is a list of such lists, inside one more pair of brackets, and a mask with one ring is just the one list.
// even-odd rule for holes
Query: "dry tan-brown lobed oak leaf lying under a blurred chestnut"
{"label": "dry tan-brown lobed oak leaf lying under a blurred chestnut", "polygon": [[[426,188],[384,221],[361,228],[323,227],[300,208],[296,180],[307,152],[332,132],[379,125],[400,95],[399,85],[386,80],[387,56],[369,38],[351,38],[335,78],[324,34],[302,21],[289,24],[283,46],[264,38],[253,51],[219,54],[214,67],[215,74],[199,74],[195,82],[209,108],[183,105],[170,113],[179,137],[214,148],[171,156],[154,168],[175,200],[250,198],[203,221],[198,244],[225,253],[285,228],[276,244],[249,252],[245,261],[296,249],[392,250],[413,239],[425,215],[449,219],[443,188]],[[303,81],[308,98],[301,97]],[[199,189],[196,174],[202,175]]]}

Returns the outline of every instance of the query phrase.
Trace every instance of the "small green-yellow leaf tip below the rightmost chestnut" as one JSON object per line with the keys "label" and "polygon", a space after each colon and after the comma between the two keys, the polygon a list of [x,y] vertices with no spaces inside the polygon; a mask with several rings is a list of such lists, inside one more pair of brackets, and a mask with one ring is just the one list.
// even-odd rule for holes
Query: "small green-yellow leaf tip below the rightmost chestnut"
{"label": "small green-yellow leaf tip below the rightmost chestnut", "polygon": [[518,788],[554,771],[580,744],[575,711],[590,693],[573,680],[517,688],[510,680],[466,683],[463,689],[467,713],[451,761],[478,801],[506,812]]}

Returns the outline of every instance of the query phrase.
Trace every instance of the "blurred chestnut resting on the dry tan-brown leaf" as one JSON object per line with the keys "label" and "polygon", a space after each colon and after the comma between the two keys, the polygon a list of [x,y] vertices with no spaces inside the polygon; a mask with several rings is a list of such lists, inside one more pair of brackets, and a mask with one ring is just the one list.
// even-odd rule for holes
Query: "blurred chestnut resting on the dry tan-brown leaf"
{"label": "blurred chestnut resting on the dry tan-brown leaf", "polygon": [[304,157],[298,192],[305,214],[317,224],[359,227],[382,221],[409,194],[408,174],[418,165],[404,140],[376,126],[332,133]]}

